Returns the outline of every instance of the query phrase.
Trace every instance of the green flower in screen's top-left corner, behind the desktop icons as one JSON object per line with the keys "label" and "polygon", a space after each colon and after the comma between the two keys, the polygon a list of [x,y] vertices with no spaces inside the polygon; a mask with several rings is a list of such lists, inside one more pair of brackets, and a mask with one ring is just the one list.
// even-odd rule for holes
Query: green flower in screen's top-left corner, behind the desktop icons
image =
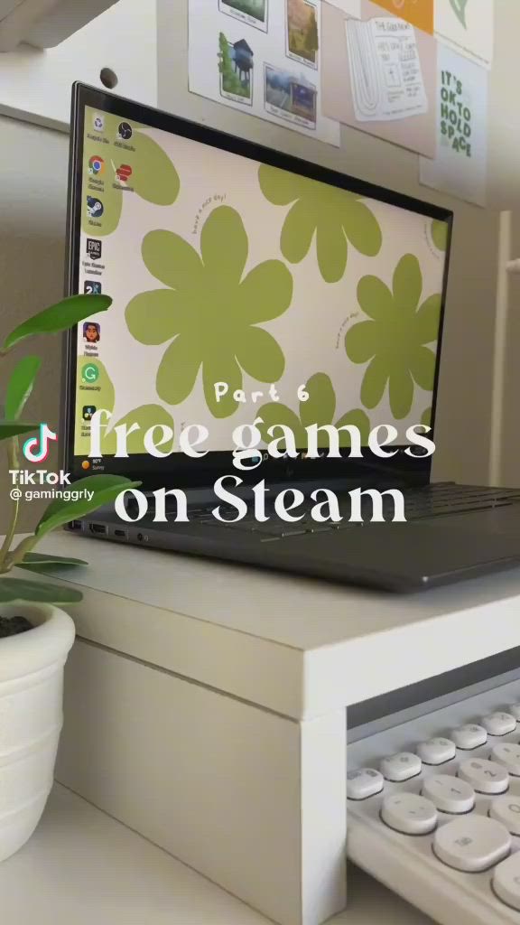
{"label": "green flower in screen's top-left corner, behind the desktop icons", "polygon": [[[87,110],[87,118],[90,112]],[[104,118],[103,134],[115,142],[121,119],[107,113]],[[113,144],[103,145],[95,141],[96,136],[91,131],[85,134],[86,193],[81,203],[81,227],[86,234],[96,238],[112,234],[118,228],[124,196],[136,194],[148,203],[171,205],[179,195],[179,174],[167,154],[153,138],[140,131],[137,125],[132,125],[131,128],[129,144],[134,151],[117,148]],[[96,166],[92,166],[93,159],[96,159]],[[126,182],[120,182],[117,174],[123,165],[130,167],[130,176]],[[91,224],[87,195],[99,199],[103,205],[103,215],[94,218],[97,223],[95,225]]]}

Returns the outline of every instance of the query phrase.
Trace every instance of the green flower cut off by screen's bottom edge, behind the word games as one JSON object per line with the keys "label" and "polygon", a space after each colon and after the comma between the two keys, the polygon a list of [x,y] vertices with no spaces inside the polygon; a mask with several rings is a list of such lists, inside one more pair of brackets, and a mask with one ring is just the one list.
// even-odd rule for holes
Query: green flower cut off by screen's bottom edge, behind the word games
{"label": "green flower cut off by screen's bottom edge, behind the word games", "polygon": [[[273,438],[269,436],[267,430],[275,425],[285,425],[290,427],[296,440],[296,448],[302,450],[307,446],[307,434],[305,427],[313,424],[318,426],[332,424],[336,413],[336,395],[332,383],[325,373],[316,373],[307,383],[308,401],[300,401],[300,414],[296,414],[288,408],[287,405],[280,404],[279,401],[270,401],[264,405],[258,412],[264,424],[258,425],[262,434],[262,439],[269,443]],[[370,422],[364,411],[350,411],[343,414],[336,423],[337,427],[345,425],[354,425],[359,427],[362,437],[362,443],[368,442],[370,433]],[[275,432],[275,438],[278,436]],[[326,433],[318,435],[318,445],[328,447],[328,436]],[[340,446],[350,447],[351,438],[348,431],[340,434]],[[280,440],[280,448],[285,447],[285,441]]]}

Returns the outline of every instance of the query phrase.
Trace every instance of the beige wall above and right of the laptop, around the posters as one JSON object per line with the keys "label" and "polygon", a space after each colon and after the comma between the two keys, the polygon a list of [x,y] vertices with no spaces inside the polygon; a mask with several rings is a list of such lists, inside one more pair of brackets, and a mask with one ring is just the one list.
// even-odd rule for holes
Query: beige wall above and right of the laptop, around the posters
{"label": "beige wall above and right of the laptop, around the posters", "polygon": [[[187,2],[158,2],[158,98],[161,108],[448,206],[455,212],[440,377],[437,429],[440,449],[434,472],[437,478],[475,483],[485,483],[489,471],[491,356],[499,222],[495,203],[499,192],[503,192],[506,176],[516,183],[520,195],[520,179],[516,179],[514,164],[518,151],[516,136],[520,134],[520,127],[514,127],[516,91],[511,76],[512,68],[518,66],[515,36],[520,28],[520,4],[496,0],[496,9],[496,58],[499,67],[495,68],[491,77],[490,103],[493,201],[484,210],[420,186],[415,154],[363,132],[344,127],[339,150],[188,93]],[[507,173],[503,172],[504,160],[507,161]],[[461,373],[461,364],[464,364],[464,373]]]}

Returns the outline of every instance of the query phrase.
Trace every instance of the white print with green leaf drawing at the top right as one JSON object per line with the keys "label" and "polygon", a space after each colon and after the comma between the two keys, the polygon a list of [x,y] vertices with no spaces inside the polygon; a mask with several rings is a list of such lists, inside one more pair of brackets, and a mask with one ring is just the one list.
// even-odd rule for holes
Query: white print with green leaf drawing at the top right
{"label": "white print with green leaf drawing at the top right", "polygon": [[435,0],[435,33],[453,51],[490,69],[494,0]]}

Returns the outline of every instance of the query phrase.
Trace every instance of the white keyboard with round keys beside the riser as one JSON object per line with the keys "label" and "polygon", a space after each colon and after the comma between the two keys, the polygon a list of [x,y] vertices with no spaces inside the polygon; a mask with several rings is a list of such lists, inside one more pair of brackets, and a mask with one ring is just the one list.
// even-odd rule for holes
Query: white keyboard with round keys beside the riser
{"label": "white keyboard with round keys beside the riser", "polygon": [[441,925],[520,925],[520,683],[349,746],[348,856]]}

